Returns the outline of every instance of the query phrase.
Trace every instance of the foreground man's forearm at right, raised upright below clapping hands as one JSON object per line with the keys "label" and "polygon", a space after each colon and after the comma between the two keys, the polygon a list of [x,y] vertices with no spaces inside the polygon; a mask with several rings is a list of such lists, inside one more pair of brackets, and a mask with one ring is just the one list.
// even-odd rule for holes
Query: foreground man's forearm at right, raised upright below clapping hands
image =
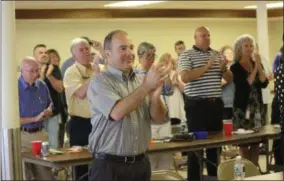
{"label": "foreground man's forearm at right, raised upright below clapping hands", "polygon": [[160,97],[153,97],[151,100],[150,114],[155,123],[162,123],[166,120],[167,110]]}

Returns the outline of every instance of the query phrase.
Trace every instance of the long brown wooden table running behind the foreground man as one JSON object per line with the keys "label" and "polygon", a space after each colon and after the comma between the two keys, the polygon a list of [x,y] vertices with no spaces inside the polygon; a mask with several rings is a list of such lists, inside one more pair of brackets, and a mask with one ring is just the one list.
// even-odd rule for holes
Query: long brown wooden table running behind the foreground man
{"label": "long brown wooden table running behind the foreground man", "polygon": [[[263,141],[267,147],[267,168],[268,168],[268,140],[279,137],[280,129],[272,125],[264,126],[258,133],[246,135],[233,135],[230,137],[224,136],[223,133],[209,134],[206,140],[194,140],[191,142],[169,142],[169,143],[154,143],[150,145],[149,154],[155,153],[175,153],[181,151],[197,151],[204,148],[217,148],[224,145],[244,144]],[[92,155],[84,150],[80,153],[67,153],[63,155],[51,155],[46,158],[35,157],[31,152],[22,153],[23,162],[34,163],[52,168],[65,168],[69,166],[89,164],[92,160]],[[25,169],[25,168],[23,168]],[[267,169],[268,170],[268,169]],[[25,173],[25,172],[24,172]]]}

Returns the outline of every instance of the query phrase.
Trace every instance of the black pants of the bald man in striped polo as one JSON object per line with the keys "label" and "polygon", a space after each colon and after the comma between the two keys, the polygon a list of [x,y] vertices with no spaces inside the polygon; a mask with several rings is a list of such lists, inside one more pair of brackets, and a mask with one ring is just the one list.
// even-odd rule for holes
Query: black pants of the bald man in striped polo
{"label": "black pants of the bald man in striped polo", "polygon": [[[185,111],[188,129],[193,131],[222,131],[223,101],[221,99],[191,99],[185,97]],[[200,151],[201,152],[201,151]],[[207,159],[219,164],[220,148],[206,149]],[[217,176],[217,167],[206,162],[209,176]],[[200,180],[199,159],[194,152],[188,153],[188,180]]]}

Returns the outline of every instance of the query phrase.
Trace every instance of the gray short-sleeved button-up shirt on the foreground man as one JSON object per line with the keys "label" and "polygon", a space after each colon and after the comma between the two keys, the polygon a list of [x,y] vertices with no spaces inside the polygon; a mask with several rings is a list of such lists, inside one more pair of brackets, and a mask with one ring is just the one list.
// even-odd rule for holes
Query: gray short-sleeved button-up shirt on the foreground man
{"label": "gray short-sleeved button-up shirt on the foreground man", "polygon": [[149,97],[122,120],[110,119],[116,102],[130,95],[140,85],[141,78],[134,72],[125,76],[111,66],[91,80],[87,93],[93,126],[89,135],[90,152],[132,156],[148,150],[151,140]]}

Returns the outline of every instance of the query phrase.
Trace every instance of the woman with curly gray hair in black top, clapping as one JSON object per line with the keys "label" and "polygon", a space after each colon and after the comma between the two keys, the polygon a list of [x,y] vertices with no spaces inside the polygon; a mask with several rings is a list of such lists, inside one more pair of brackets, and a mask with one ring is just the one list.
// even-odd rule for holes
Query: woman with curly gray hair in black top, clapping
{"label": "woman with curly gray hair in black top, clapping", "polygon": [[[234,46],[235,63],[231,66],[235,84],[233,125],[237,129],[254,129],[261,125],[261,89],[267,87],[260,55],[254,53],[250,35],[237,38]],[[242,156],[258,165],[259,143],[240,145]]]}

